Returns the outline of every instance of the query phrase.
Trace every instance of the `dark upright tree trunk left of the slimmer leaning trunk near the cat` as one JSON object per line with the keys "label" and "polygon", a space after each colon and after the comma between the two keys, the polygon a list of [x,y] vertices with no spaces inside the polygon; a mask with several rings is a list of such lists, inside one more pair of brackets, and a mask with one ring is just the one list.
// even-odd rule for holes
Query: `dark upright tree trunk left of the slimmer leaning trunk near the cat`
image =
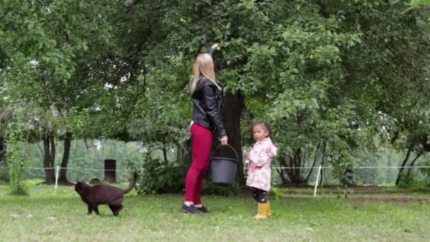
{"label": "dark upright tree trunk left of the slimmer leaning trunk near the cat", "polygon": [[45,184],[55,182],[55,142],[54,135],[51,132],[45,132],[43,137],[43,146],[45,147],[45,157],[43,159],[43,168],[45,168]]}

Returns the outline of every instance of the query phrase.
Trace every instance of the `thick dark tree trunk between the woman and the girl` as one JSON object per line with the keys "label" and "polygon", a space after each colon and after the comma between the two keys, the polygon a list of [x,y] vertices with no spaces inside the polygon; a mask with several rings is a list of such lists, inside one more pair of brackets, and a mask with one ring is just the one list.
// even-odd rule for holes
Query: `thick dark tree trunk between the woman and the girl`
{"label": "thick dark tree trunk between the woman and the girl", "polygon": [[[244,108],[244,97],[239,91],[236,93],[226,93],[224,96],[223,123],[226,126],[228,144],[233,146],[233,149],[238,153],[238,172],[236,173],[236,182],[239,187],[245,185],[243,176],[243,161],[242,161],[242,143],[240,137],[240,117]],[[226,154],[226,152],[228,152]],[[221,150],[221,156],[235,157],[233,151],[228,149]],[[234,153],[234,152],[233,152]]]}

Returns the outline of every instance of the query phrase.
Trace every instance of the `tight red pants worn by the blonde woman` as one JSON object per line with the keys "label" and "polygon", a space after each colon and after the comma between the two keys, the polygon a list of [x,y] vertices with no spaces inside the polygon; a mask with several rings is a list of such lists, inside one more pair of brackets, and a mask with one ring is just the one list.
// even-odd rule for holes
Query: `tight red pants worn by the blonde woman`
{"label": "tight red pants worn by the blonde woman", "polygon": [[211,159],[212,132],[195,122],[190,131],[192,137],[192,164],[185,180],[185,202],[202,204],[203,180],[209,166],[209,159]]}

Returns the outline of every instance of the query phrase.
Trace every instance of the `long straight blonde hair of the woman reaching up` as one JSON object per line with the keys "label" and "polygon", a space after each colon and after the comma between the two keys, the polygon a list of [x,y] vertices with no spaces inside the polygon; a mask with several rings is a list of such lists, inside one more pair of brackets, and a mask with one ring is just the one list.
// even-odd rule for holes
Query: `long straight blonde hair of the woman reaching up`
{"label": "long straight blonde hair of the woman reaching up", "polygon": [[199,79],[202,76],[211,80],[215,86],[221,90],[221,87],[215,81],[214,61],[210,54],[199,54],[194,62],[190,81],[191,93],[194,93],[196,90],[197,82],[199,82]]}

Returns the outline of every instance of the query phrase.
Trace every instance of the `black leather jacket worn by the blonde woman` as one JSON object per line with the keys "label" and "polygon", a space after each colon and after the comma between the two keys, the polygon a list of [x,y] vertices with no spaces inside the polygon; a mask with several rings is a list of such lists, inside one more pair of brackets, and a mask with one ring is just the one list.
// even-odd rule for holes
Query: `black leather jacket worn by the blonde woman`
{"label": "black leather jacket worn by the blonde woman", "polygon": [[201,77],[192,93],[192,120],[216,131],[219,137],[227,135],[222,122],[223,100],[221,91],[209,79]]}

